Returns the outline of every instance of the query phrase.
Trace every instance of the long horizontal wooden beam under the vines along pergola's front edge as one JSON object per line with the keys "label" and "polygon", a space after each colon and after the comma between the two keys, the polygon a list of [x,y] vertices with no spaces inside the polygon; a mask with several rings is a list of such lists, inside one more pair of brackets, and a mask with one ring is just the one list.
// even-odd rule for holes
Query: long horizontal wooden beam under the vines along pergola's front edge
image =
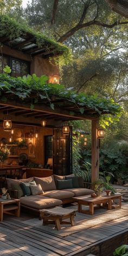
{"label": "long horizontal wooden beam under the vines along pergola's front edge", "polygon": [[[3,101],[0,100],[0,105],[3,106],[10,106],[10,107],[17,107],[17,108],[21,108],[22,110],[29,110],[30,111],[30,104],[24,104],[24,102],[22,101],[16,101],[16,100],[8,100],[8,103],[3,103]],[[59,116],[62,117],[69,117],[69,118],[78,118],[80,120],[82,119],[89,119],[89,120],[93,120],[95,119],[95,117],[90,117],[87,116],[86,114],[75,114],[74,116],[71,116],[69,114],[69,111],[63,110],[63,108],[55,108],[55,110],[52,110],[52,108],[50,108],[50,106],[46,106],[44,104],[38,105],[35,104],[34,110],[33,111],[38,111],[38,112],[45,112],[45,113],[49,113],[49,114],[57,114]]]}

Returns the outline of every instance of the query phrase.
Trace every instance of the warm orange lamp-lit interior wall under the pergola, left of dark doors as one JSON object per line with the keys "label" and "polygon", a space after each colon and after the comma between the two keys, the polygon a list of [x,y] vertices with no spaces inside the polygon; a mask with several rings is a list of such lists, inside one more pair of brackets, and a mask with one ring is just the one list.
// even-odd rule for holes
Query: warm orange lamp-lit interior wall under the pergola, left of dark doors
{"label": "warm orange lamp-lit interior wall under the pergola, left of dark doors", "polygon": [[[12,140],[21,141],[21,135],[25,135],[25,133],[30,131],[35,132],[36,127],[31,126],[18,126],[14,127],[14,135],[12,136]],[[53,129],[48,127],[38,127],[39,138],[33,139],[33,146],[29,146],[27,149],[20,149],[14,147],[15,155],[20,155],[21,153],[26,153],[31,159],[31,161],[44,165],[44,136],[53,135]],[[2,138],[6,138],[9,140],[10,132],[4,132],[3,126],[0,126],[0,140]],[[8,158],[8,163],[12,163],[12,161],[16,161],[18,163],[18,158]]]}

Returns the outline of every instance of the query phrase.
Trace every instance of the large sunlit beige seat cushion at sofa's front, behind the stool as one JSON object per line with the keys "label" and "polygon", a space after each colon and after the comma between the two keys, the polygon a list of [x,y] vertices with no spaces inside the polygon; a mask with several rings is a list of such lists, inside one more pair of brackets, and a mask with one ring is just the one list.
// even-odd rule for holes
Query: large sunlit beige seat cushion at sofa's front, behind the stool
{"label": "large sunlit beige seat cushion at sofa's front, behind the stool", "polygon": [[20,198],[21,204],[35,209],[46,209],[50,207],[60,206],[62,204],[61,200],[50,199],[44,196],[23,196]]}

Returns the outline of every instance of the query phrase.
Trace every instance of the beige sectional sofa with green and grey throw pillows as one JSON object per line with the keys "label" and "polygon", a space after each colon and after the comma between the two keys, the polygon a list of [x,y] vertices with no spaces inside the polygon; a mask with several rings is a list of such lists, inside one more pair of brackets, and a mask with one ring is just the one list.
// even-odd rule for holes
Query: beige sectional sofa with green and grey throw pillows
{"label": "beige sectional sofa with green and grey throw pillows", "polygon": [[75,197],[91,195],[84,188],[81,177],[52,175],[45,178],[31,177],[23,180],[7,178],[8,190],[14,191],[21,206],[35,212],[75,201]]}

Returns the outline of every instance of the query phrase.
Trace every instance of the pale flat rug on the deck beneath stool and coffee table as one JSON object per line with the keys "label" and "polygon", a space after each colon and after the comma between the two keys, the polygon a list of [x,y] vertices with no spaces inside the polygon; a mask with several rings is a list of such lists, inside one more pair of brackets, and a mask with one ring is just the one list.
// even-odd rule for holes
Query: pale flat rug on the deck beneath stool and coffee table
{"label": "pale flat rug on the deck beneath stool and coffee table", "polygon": [[[55,229],[55,225],[47,225],[42,226],[43,221],[39,219],[29,219],[27,221],[23,221],[26,225],[34,226],[40,228],[43,232],[49,232],[55,235],[60,235],[62,237],[84,231],[85,229],[97,226],[101,223],[105,223],[108,221],[112,221],[114,219],[118,219],[119,217],[123,217],[128,215],[128,204],[122,204],[121,209],[114,210],[106,210],[106,209],[95,209],[94,215],[82,214],[78,213],[78,207],[76,205],[67,207],[67,209],[73,209],[76,212],[75,216],[75,226],[71,227],[71,225],[61,225],[61,230],[57,231]],[[83,209],[87,209],[86,206]]]}

